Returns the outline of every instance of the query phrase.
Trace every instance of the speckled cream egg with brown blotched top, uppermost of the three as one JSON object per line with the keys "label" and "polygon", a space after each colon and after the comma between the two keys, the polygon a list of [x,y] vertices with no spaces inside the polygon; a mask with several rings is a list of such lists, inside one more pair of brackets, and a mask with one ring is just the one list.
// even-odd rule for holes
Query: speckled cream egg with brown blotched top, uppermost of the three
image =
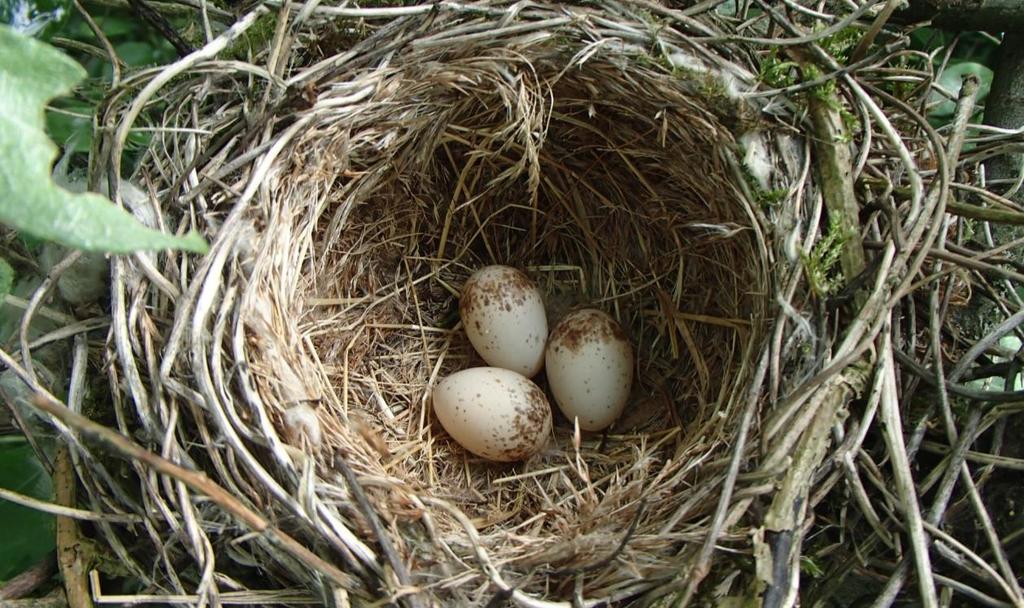
{"label": "speckled cream egg with brown blotched top, uppermost of the three", "polygon": [[544,366],[548,316],[537,286],[509,266],[485,266],[462,288],[459,315],[488,365],[532,378]]}

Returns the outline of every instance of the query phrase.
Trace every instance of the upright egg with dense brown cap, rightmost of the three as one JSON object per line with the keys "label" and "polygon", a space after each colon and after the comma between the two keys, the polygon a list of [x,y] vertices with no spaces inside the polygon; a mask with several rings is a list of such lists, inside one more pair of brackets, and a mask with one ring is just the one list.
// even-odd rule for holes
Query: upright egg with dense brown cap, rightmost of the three
{"label": "upright egg with dense brown cap, rightmost of the three", "polygon": [[626,407],[633,384],[633,347],[604,312],[584,308],[555,325],[545,353],[558,408],[585,431],[600,431]]}

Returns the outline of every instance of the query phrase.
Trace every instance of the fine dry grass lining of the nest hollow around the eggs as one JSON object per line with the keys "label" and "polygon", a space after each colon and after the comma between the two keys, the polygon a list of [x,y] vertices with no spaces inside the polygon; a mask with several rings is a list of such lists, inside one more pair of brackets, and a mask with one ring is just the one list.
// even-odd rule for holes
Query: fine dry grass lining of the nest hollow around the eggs
{"label": "fine dry grass lining of the nest hollow around the eggs", "polygon": [[[459,518],[435,510],[431,539],[410,531],[429,496],[527,589],[567,597],[561,575],[590,568],[588,597],[612,596],[677,572],[700,536],[769,277],[731,133],[692,82],[611,53],[528,53],[420,56],[375,75],[373,98],[316,116],[247,236],[242,320],[282,436],[316,455],[325,496],[336,459],[370,480],[414,584],[486,581],[463,561]],[[458,292],[492,263],[530,274],[552,325],[592,305],[626,328],[637,380],[609,432],[578,436],[556,408],[548,448],[502,466],[436,423],[430,387],[483,364]],[[287,412],[310,403],[322,431],[290,432]]]}

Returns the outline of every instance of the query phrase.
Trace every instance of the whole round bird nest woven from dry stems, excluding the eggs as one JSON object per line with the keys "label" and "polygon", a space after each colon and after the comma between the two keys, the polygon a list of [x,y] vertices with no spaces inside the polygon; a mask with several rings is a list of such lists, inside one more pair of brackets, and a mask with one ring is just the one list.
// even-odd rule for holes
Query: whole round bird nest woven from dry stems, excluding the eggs
{"label": "whole round bird nest woven from dry stems, excluding the eggs", "polygon": [[[699,7],[286,6],[126,81],[108,111],[115,177],[128,129],[160,117],[136,214],[212,246],[115,262],[112,425],[169,477],[139,465],[113,491],[83,468],[94,502],[144,519],[99,524],[111,551],[196,601],[791,593],[841,415],[870,394],[869,426],[887,402],[865,387],[892,368],[890,311],[948,180],[912,156],[941,164],[945,142],[852,80],[828,89],[841,72],[766,90],[767,55],[740,46],[764,41]],[[269,48],[223,58],[258,48],[254,24]],[[831,158],[805,132],[836,117],[889,139]],[[896,187],[851,215],[827,170],[844,163]],[[487,264],[526,272],[553,320],[620,321],[636,381],[611,428],[556,412],[539,454],[496,464],[439,426],[431,388],[481,364],[458,301]]]}

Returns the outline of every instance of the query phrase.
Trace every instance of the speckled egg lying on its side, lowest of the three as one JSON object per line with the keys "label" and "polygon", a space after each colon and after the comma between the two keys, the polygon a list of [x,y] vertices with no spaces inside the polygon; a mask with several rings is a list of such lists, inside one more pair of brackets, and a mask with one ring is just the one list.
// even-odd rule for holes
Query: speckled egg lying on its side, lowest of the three
{"label": "speckled egg lying on its side, lowest of the three", "polygon": [[492,461],[521,461],[551,434],[551,405],[529,379],[501,367],[471,367],[437,383],[434,412],[453,439]]}

